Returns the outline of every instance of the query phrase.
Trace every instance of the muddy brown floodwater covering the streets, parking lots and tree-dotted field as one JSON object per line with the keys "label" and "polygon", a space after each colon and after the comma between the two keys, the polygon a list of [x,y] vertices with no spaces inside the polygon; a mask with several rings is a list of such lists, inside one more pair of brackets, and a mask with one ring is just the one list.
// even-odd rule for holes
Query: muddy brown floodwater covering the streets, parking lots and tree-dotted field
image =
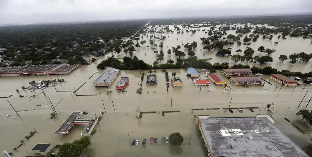
{"label": "muddy brown floodwater covering the streets, parking lots and tree-dotted field", "polygon": [[[171,28],[173,29],[172,26]],[[230,33],[229,31],[227,34],[233,33]],[[150,34],[148,35],[150,36]],[[157,36],[157,34],[155,35]],[[193,37],[187,33],[165,35],[169,36],[169,38],[163,41],[165,61],[167,59],[173,59],[175,61],[176,58],[174,55],[167,55],[167,46],[168,48],[173,46],[176,47],[177,45],[181,45],[181,47],[183,47],[181,41],[183,41],[184,44],[187,42],[191,43],[193,41],[197,41],[198,47],[195,50],[195,53],[198,58],[213,58],[211,60],[212,63],[230,62],[229,57],[215,56],[216,51],[200,51],[203,46],[200,44],[201,42],[199,38],[207,36],[207,34],[204,34],[202,31],[197,31]],[[178,40],[176,38],[178,38]],[[276,38],[277,35],[273,35],[273,39]],[[146,36],[144,39],[148,40],[146,39]],[[290,71],[301,72],[311,71],[311,62],[296,63],[290,66],[289,61],[284,61],[284,63],[280,63],[278,61],[277,57],[280,54],[289,55],[292,53],[309,52],[311,47],[309,39],[302,41],[302,38],[290,39],[291,38],[281,40],[278,45],[272,44],[272,47],[277,50],[277,52],[271,55],[275,62],[267,65],[279,70],[288,69]],[[267,48],[271,45],[270,41],[262,40],[262,38],[258,40],[259,41],[257,42],[252,42],[252,48],[257,49],[259,46]],[[275,41],[273,41],[273,43],[274,42]],[[160,41],[156,40],[156,43],[159,45]],[[290,45],[300,45],[300,47],[297,46],[293,48]],[[237,46],[235,44],[232,47],[232,52],[235,52],[236,48],[243,49],[245,46]],[[148,53],[148,55],[144,55],[144,53]],[[142,59],[149,64],[152,64],[156,59],[156,55],[154,55],[151,51],[151,48],[148,49],[145,46],[134,52],[134,54],[138,56],[139,59]],[[199,54],[205,54],[205,56]],[[110,55],[111,54],[108,56]],[[265,54],[261,53],[261,55]],[[115,54],[115,56],[123,57],[124,53],[121,53],[121,55]],[[0,143],[1,150],[13,152],[14,156],[26,156],[28,154],[25,150],[33,155],[31,149],[37,143],[49,143],[51,141],[53,145],[56,145],[67,141],[71,142],[76,138],[80,138],[80,133],[85,127],[84,125],[75,125],[75,127],[70,129],[69,134],[66,135],[54,134],[68,115],[73,110],[88,111],[89,114],[81,115],[82,119],[88,119],[90,117],[94,117],[95,114],[96,116],[99,116],[100,110],[105,112],[105,106],[106,113],[104,113],[102,120],[99,123],[100,126],[95,128],[97,130],[95,135],[90,136],[92,144],[85,149],[82,156],[207,156],[207,149],[204,147],[204,142],[201,139],[201,134],[198,131],[193,115],[209,114],[212,117],[233,117],[255,116],[259,113],[270,114],[276,120],[275,125],[278,128],[289,136],[290,139],[292,139],[308,155],[312,155],[312,141],[310,140],[312,130],[305,120],[301,122],[301,116],[297,116],[295,114],[301,109],[312,110],[312,104],[305,107],[308,103],[307,101],[309,101],[312,96],[312,85],[308,84],[305,89],[303,89],[305,84],[298,87],[284,86],[280,89],[280,84],[272,80],[270,81],[269,75],[261,75],[261,78],[270,81],[273,85],[277,85],[279,87],[275,88],[274,86],[270,86],[268,83],[266,83],[263,87],[254,85],[243,88],[242,86],[233,85],[231,91],[228,91],[228,87],[223,89],[222,86],[215,86],[214,84],[211,84],[207,87],[203,86],[200,89],[200,87],[195,88],[191,78],[186,77],[187,71],[185,71],[185,69],[167,69],[170,78],[171,73],[176,72],[176,77],[180,77],[183,81],[182,88],[173,88],[172,85],[170,85],[167,92],[164,72],[156,70],[153,74],[157,74],[158,84],[146,86],[146,75],[149,73],[148,70],[144,70],[145,77],[142,83],[143,85],[140,86],[142,87],[142,94],[137,94],[136,89],[138,88],[138,83],[141,79],[139,70],[121,70],[119,76],[111,85],[112,92],[107,95],[105,88],[95,88],[92,86],[92,82],[95,78],[97,78],[104,71],[100,70],[100,73],[96,73],[96,65],[105,58],[106,57],[101,57],[98,61],[92,63],[91,65],[82,65],[81,69],[77,68],[69,75],[58,75],[60,79],[63,78],[68,81],[56,83],[56,89],[54,86],[44,89],[46,96],[39,94],[40,91],[36,90],[36,95],[39,94],[39,96],[30,98],[27,94],[29,96],[35,94],[34,92],[31,92],[31,90],[21,90],[18,93],[16,93],[15,90],[24,86],[23,83],[28,84],[28,82],[33,80],[38,81],[51,78],[57,79],[56,75],[1,77],[0,95],[12,95],[12,97],[7,99],[0,99],[0,132],[2,134],[2,142]],[[164,61],[162,61],[162,63],[163,62]],[[230,62],[230,64],[232,63]],[[256,65],[259,67],[266,66],[260,66],[259,64],[253,63],[249,65]],[[217,73],[222,76],[220,70],[218,70]],[[89,79],[93,74],[95,74],[95,77],[91,77],[91,79]],[[115,86],[122,76],[129,76],[130,82],[124,89],[126,92],[118,93]],[[225,81],[229,82],[229,79],[225,78]],[[77,91],[77,94],[97,94],[96,96],[76,96],[75,94],[71,95],[70,92],[56,92],[56,90],[73,92],[74,88],[79,88],[84,82],[86,83]],[[213,91],[204,92],[207,89],[212,89]],[[303,99],[307,91],[309,92]],[[19,95],[24,95],[25,97],[19,97]],[[57,116],[54,119],[50,119],[52,109],[48,98],[51,99],[54,106],[63,98],[60,103],[55,106]],[[102,99],[104,101],[104,106]],[[301,106],[298,107],[302,99],[303,102],[301,103]],[[18,117],[7,100],[10,101],[15,110],[29,111],[18,112],[20,115],[20,117]],[[234,110],[234,113],[225,112],[222,108],[229,105],[230,101],[231,107],[259,107],[259,109],[254,109],[255,112],[250,112],[248,109],[243,109],[243,113],[239,113],[236,110]],[[264,110],[266,104],[271,103],[272,101],[275,101],[278,104],[274,113]],[[140,106],[140,111],[156,111],[156,113],[143,114],[142,119],[137,119],[137,106]],[[194,110],[192,113],[192,107],[194,109],[202,108],[204,110]],[[220,110],[205,110],[206,108],[220,108]],[[160,112],[170,110],[181,112],[165,113],[165,116],[162,116],[161,114],[158,114],[158,109]],[[287,110],[289,110],[289,112],[287,112]],[[7,114],[11,114],[11,116],[4,118]],[[283,119],[285,115],[286,118],[290,119],[291,123],[302,129],[305,134]],[[30,131],[34,131],[32,126],[34,126],[37,130],[37,133],[29,140],[24,139],[24,136],[29,135]],[[161,143],[161,137],[168,137],[169,134],[173,132],[180,132],[184,137],[184,141],[181,146],[171,146],[166,143]],[[151,136],[157,137],[158,143],[150,144],[149,139]],[[145,146],[141,144],[144,138],[147,139]],[[129,140],[132,141],[132,139],[139,139],[139,145],[129,146]],[[24,140],[25,143],[18,148],[17,151],[12,150],[14,147],[20,145],[20,140]],[[191,145],[189,145],[189,142]]]}

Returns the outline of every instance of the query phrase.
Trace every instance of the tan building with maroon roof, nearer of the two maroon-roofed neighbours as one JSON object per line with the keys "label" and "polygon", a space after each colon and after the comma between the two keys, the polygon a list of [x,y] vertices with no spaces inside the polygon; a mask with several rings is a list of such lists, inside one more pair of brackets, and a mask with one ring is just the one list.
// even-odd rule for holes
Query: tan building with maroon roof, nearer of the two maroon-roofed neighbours
{"label": "tan building with maroon roof, nearer of the two maroon-roofed neighbours", "polygon": [[231,81],[235,85],[261,85],[264,86],[264,81],[259,76],[232,76]]}

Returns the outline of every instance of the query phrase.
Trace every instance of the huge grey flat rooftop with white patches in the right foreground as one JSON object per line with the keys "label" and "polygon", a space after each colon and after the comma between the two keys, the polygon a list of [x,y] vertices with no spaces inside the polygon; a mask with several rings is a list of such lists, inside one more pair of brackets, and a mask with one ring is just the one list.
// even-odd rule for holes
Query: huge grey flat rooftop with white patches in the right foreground
{"label": "huge grey flat rooftop with white patches in the right foreground", "polygon": [[212,157],[308,157],[290,140],[268,114],[256,117],[211,118],[198,115]]}

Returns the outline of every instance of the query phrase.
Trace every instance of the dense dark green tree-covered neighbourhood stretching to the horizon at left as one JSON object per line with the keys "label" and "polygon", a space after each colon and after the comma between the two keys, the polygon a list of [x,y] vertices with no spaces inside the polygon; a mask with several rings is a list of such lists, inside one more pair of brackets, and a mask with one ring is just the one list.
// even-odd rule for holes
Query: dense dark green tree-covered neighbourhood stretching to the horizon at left
{"label": "dense dark green tree-covered neighbourhood stretching to the horizon at left", "polygon": [[[14,61],[11,66],[23,65],[23,61],[42,65],[69,57],[70,64],[86,64],[81,56],[91,56],[101,48],[112,51],[123,42],[122,37],[133,35],[146,22],[4,26],[0,29],[0,47],[4,48],[0,55],[5,56],[3,61]],[[103,55],[99,52],[99,56]],[[3,62],[1,66],[5,66]]]}

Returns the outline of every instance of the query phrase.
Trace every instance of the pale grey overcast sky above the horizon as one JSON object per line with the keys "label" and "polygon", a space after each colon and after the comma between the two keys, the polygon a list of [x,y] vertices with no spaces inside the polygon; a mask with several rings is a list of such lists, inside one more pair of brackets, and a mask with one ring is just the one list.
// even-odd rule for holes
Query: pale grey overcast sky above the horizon
{"label": "pale grey overcast sky above the horizon", "polygon": [[312,0],[0,0],[0,24],[312,12]]}

